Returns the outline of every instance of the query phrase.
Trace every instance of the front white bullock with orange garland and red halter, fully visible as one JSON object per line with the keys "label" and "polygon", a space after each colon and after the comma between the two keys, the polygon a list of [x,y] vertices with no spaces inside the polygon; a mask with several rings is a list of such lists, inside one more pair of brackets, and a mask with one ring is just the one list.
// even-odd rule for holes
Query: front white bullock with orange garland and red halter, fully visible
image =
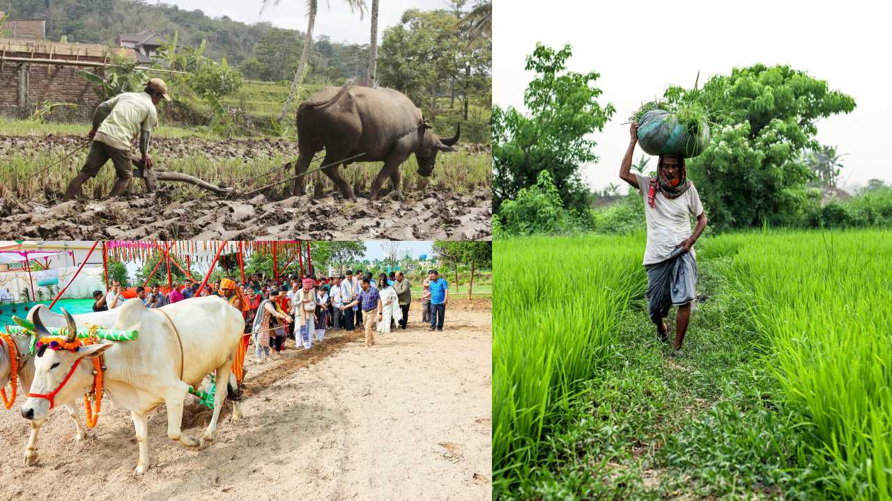
{"label": "front white bullock with orange garland and red halter, fully visible", "polygon": [[[69,318],[70,327],[74,327],[74,319],[62,311]],[[186,447],[203,447],[214,439],[227,390],[235,389],[219,384],[211,423],[201,439],[181,431],[183,401],[189,387],[197,388],[207,374],[215,372],[218,382],[233,381],[230,372],[244,332],[244,319],[238,310],[217,296],[178,301],[157,309],[145,308],[141,300],[134,298],[115,311],[117,321],[111,329],[139,331],[138,339],[102,342],[81,347],[76,352],[38,350],[34,381],[29,398],[21,407],[21,415],[43,423],[50,410],[48,395],[65,402],[89,391],[93,386],[93,364],[79,364],[79,361],[104,354],[105,393],[120,407],[128,409],[133,418],[139,442],[138,475],[149,466],[146,415],[162,403],[167,407],[169,439]],[[33,321],[38,336],[49,335],[39,314]],[[237,402],[233,404],[233,420],[237,421],[240,410]]]}

